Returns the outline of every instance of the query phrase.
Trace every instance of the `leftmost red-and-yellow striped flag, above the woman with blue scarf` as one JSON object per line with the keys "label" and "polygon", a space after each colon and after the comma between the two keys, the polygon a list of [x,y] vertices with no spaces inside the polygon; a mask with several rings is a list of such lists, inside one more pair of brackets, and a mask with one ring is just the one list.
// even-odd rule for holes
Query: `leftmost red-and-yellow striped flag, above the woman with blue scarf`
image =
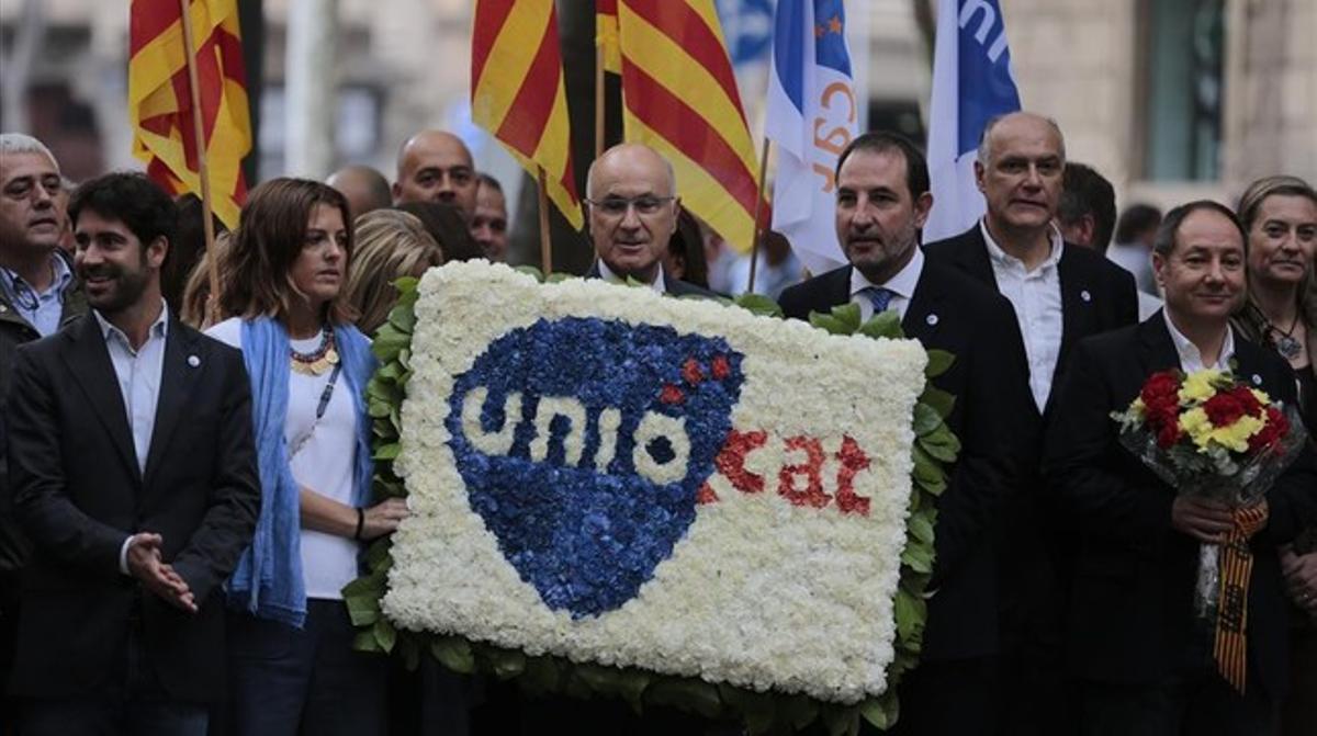
{"label": "leftmost red-and-yellow striped flag, above the woman with blue scarf", "polygon": [[[202,101],[202,129],[215,215],[238,224],[246,200],[242,157],[252,150],[246,76],[237,0],[192,0],[192,41]],[[132,0],[128,113],[133,155],[174,195],[202,194],[192,96],[178,0]]]}

